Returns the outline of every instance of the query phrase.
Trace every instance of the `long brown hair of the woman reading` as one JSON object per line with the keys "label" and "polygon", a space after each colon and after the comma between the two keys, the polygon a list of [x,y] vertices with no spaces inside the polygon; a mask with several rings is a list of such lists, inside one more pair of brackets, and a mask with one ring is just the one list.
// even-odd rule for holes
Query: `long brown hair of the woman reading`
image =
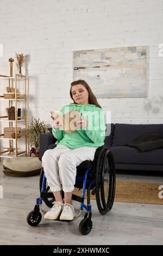
{"label": "long brown hair of the woman reading", "polygon": [[[84,86],[87,89],[87,91],[89,93],[89,104],[93,104],[93,105],[96,105],[97,107],[102,108],[98,104],[96,96],[92,93],[90,86],[84,80],[77,80],[77,81],[72,82],[71,88],[72,88],[72,86],[77,86],[77,84],[82,84],[82,86]],[[73,100],[71,88],[70,88],[70,96],[71,96],[71,99]],[[74,100],[73,100],[73,102],[77,104],[77,102],[75,102]]]}

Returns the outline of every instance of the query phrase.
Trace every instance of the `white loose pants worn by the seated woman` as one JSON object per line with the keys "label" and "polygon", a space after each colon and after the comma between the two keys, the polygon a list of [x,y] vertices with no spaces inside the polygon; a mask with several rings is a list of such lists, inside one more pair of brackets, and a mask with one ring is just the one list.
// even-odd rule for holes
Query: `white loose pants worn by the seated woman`
{"label": "white loose pants worn by the seated woman", "polygon": [[72,192],[76,181],[76,167],[85,160],[93,161],[97,148],[70,149],[65,145],[57,145],[54,149],[46,150],[42,156],[42,167],[51,191]]}

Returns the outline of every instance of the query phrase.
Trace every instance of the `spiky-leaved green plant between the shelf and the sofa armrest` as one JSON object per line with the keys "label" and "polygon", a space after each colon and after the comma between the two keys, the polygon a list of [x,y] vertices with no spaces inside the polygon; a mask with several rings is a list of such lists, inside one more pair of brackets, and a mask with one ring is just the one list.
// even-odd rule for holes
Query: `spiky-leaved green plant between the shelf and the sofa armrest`
{"label": "spiky-leaved green plant between the shelf and the sofa armrest", "polygon": [[21,136],[26,136],[29,146],[35,148],[35,156],[39,156],[40,133],[46,133],[49,127],[51,125],[46,125],[40,118],[32,117],[27,127],[21,132]]}

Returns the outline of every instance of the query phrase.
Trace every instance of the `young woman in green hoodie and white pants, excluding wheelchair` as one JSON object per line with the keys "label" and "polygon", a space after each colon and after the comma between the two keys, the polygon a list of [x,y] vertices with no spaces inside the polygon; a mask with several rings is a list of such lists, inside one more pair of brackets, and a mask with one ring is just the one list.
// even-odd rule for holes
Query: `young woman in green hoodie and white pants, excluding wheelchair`
{"label": "young woman in green hoodie and white pants, excluding wheelchair", "polygon": [[[76,167],[85,160],[93,161],[95,151],[104,145],[105,115],[96,96],[84,80],[71,83],[70,96],[73,103],[64,106],[61,113],[77,109],[81,120],[76,131],[62,130],[59,121],[53,121],[52,132],[57,147],[48,149],[42,157],[42,167],[55,202],[45,214],[49,220],[73,220],[72,192],[76,181]],[[64,191],[64,200],[62,199]]]}

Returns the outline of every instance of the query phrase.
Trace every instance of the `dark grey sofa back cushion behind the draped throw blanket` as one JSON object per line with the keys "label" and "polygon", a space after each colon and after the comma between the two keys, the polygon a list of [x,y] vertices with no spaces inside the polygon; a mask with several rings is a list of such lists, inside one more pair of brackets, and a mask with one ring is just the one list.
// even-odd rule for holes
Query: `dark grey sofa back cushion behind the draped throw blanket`
{"label": "dark grey sofa back cushion behind the draped throw blanket", "polygon": [[112,146],[125,145],[151,130],[160,130],[163,137],[163,124],[115,124]]}

